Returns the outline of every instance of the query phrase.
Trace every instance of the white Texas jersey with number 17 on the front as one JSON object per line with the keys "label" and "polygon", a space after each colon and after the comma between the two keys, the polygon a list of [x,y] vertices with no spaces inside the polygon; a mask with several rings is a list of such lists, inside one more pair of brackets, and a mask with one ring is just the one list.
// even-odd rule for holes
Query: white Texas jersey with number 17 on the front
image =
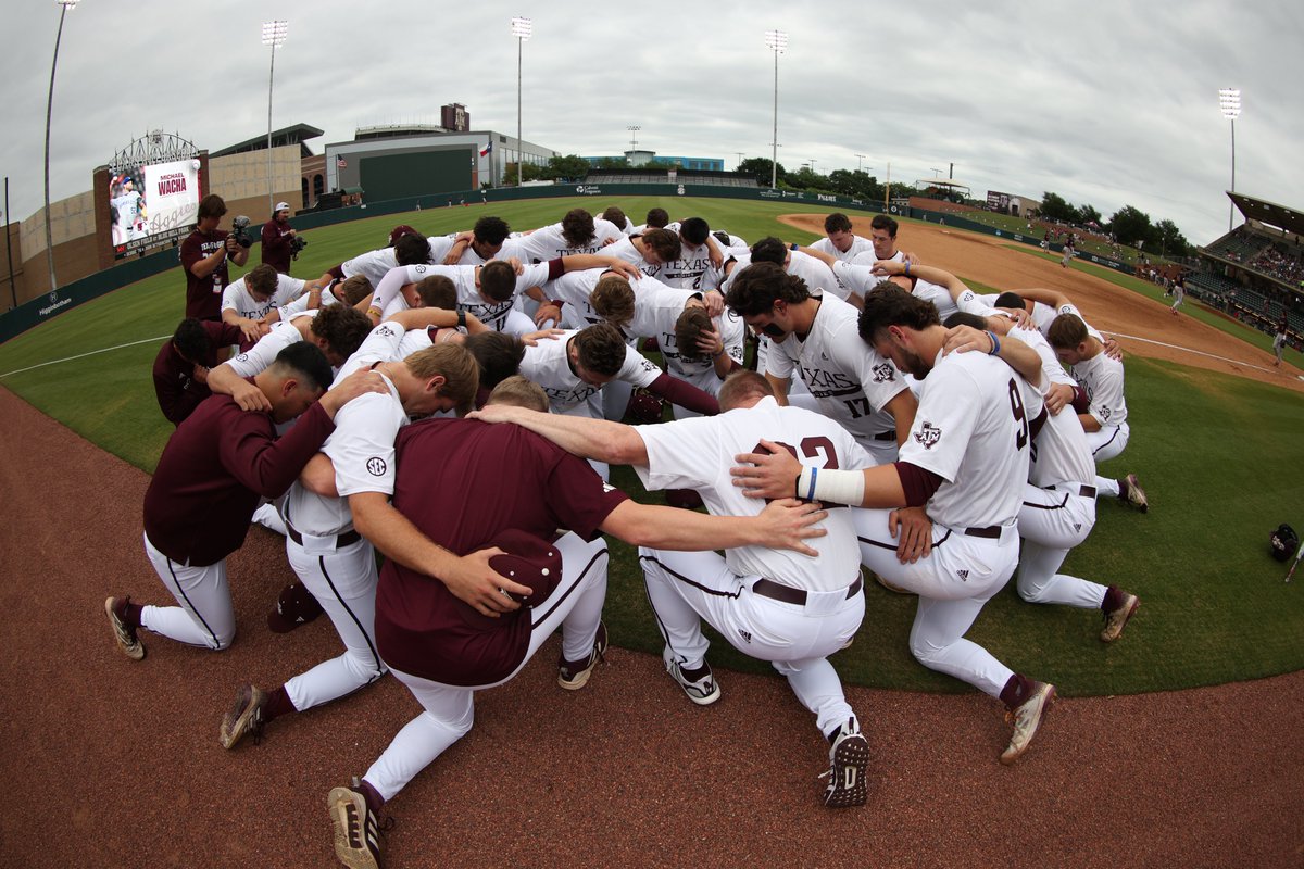
{"label": "white Texas jersey with number 17 on the front", "polygon": [[765,374],[780,380],[794,375],[810,390],[811,403],[841,423],[879,464],[896,460],[896,422],[884,406],[906,388],[897,367],[861,340],[859,311],[824,293],[806,339],[795,334],[769,341]]}

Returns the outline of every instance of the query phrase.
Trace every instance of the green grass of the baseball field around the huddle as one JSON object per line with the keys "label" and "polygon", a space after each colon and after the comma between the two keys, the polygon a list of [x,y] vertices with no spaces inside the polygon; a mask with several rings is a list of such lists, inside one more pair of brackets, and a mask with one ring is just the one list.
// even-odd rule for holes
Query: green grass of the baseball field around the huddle
{"label": "green grass of the baseball field around the huddle", "polygon": [[[554,221],[575,205],[592,208],[606,202],[546,199],[496,206],[494,212],[514,228],[529,228]],[[639,220],[649,207],[661,206],[678,215],[686,203],[648,197],[622,199],[619,205]],[[819,211],[807,203],[801,208]],[[694,199],[691,210],[713,228],[746,238],[815,238],[777,221],[778,215],[793,210],[792,203]],[[317,275],[355,253],[382,245],[396,223],[433,235],[467,228],[481,214],[479,207],[441,208],[314,229],[295,272]],[[1045,255],[1030,248],[1017,249]],[[1082,263],[1074,267],[1097,270],[1134,292],[1153,297],[1161,293],[1151,284],[1110,270]],[[151,470],[171,426],[158,412],[150,366],[181,317],[183,300],[179,268],[61,314],[0,347],[0,384],[104,449]],[[1196,305],[1187,309],[1198,310]],[[1211,313],[1206,317],[1249,341],[1261,337]],[[81,358],[57,361],[74,356]],[[1304,667],[1304,605],[1299,598],[1304,580],[1283,584],[1284,569],[1267,556],[1266,543],[1271,528],[1295,516],[1299,469],[1304,466],[1299,438],[1304,403],[1277,387],[1129,357],[1128,404],[1132,442],[1106,473],[1140,473],[1153,508],[1142,516],[1102,502],[1095,532],[1063,568],[1141,595],[1142,608],[1125,637],[1104,646],[1097,638],[1097,612],[1022,603],[1013,584],[986,607],[969,636],[1011,667],[1052,680],[1065,694],[1074,696],[1185,688]],[[17,452],[17,444],[9,447]],[[645,496],[629,469],[615,469],[613,482]],[[1294,524],[1304,526],[1299,519]],[[613,641],[657,651],[660,640],[632,552],[619,543],[613,552],[606,612]],[[149,573],[143,559],[141,572]],[[914,612],[911,598],[871,585],[867,602],[855,644],[837,655],[848,681],[968,691],[910,658],[906,637]],[[739,670],[768,670],[719,642],[712,659]]]}

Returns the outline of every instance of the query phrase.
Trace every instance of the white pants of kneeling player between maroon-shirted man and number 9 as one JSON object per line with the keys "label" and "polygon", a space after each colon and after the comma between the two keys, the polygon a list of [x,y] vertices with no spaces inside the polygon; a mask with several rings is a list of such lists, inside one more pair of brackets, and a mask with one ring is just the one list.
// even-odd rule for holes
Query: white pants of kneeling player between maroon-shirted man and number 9
{"label": "white pants of kneeling player between maroon-shirted man and number 9", "polygon": [[[820,734],[854,718],[842,681],[828,655],[846,645],[865,618],[865,591],[807,591],[805,605],[775,601],[752,591],[758,576],[738,576],[715,552],[672,552],[639,547],[657,627],[681,666],[700,667],[709,641],[702,620],[733,648],[768,661],[788,679],[793,693],[815,714]],[[848,578],[848,586],[855,577]]]}

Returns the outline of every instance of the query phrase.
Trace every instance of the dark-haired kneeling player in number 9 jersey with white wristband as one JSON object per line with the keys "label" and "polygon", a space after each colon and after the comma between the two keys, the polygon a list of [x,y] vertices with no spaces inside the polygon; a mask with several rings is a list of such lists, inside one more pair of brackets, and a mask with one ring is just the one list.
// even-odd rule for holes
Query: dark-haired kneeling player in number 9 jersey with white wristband
{"label": "dark-haired kneeling player in number 9 jersey with white wristband", "polygon": [[[803,468],[762,440],[771,452],[739,456],[750,464],[733,474],[758,498],[792,495],[797,478],[802,498],[874,508],[855,517],[861,558],[892,585],[919,595],[911,654],[1005,704],[1015,732],[1000,760],[1013,763],[1037,734],[1055,687],[1016,674],[964,637],[1018,563],[1016,520],[1033,426],[1043,413],[1041,397],[1025,393],[1020,382],[1041,380],[1041,357],[1011,337],[998,341],[968,327],[948,332],[935,306],[898,288],[865,300],[859,334],[921,380],[900,460],[863,472]],[[996,353],[1017,373],[990,358]],[[891,509],[923,506],[932,528],[902,525]]]}

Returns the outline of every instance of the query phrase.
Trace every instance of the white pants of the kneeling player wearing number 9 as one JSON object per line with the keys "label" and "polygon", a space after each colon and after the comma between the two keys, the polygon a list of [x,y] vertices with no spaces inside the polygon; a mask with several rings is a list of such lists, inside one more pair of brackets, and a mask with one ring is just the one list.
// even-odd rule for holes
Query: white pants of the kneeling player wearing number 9
{"label": "white pants of the kneeling player wearing number 9", "polygon": [[1015,572],[1018,533],[1011,525],[1000,537],[974,537],[964,529],[932,526],[932,552],[914,564],[896,556],[887,509],[857,509],[861,562],[880,577],[919,595],[910,627],[910,654],[930,670],[968,681],[1000,697],[1015,671],[982,646],[965,640],[982,607]]}

